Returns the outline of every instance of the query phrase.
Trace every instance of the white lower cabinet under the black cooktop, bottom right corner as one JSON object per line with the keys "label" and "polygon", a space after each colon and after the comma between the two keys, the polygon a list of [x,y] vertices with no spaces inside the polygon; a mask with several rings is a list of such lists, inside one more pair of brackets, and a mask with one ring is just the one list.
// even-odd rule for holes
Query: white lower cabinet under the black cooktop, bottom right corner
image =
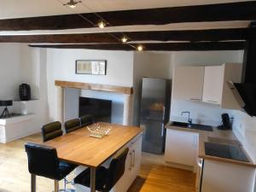
{"label": "white lower cabinet under the black cooktop, bottom right corner", "polygon": [[253,192],[255,168],[205,160],[201,192]]}

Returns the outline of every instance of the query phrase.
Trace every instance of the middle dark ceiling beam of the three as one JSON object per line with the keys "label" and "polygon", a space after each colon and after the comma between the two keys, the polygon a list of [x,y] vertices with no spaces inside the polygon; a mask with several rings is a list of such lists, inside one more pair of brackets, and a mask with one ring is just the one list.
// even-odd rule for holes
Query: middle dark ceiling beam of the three
{"label": "middle dark ceiling beam of the three", "polygon": [[[124,32],[130,41],[224,41],[246,40],[252,29],[212,29],[160,32]],[[256,33],[256,29],[253,29]],[[110,34],[110,35],[109,35]],[[90,44],[119,43],[122,32],[58,34],[58,35],[15,35],[0,36],[0,43],[49,43],[49,44]],[[116,37],[116,38],[113,38]]]}

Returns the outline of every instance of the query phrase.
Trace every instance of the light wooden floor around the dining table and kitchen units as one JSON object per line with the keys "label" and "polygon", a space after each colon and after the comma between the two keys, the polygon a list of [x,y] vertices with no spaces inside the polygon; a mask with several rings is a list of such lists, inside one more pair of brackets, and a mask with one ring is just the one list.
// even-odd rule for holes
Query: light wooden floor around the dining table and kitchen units
{"label": "light wooden floor around the dining table and kitchen units", "polygon": [[[38,142],[39,134],[8,144],[0,143],[0,192],[29,192],[30,174],[24,148],[26,142]],[[53,190],[52,180],[38,177],[37,192]],[[129,192],[195,192],[195,174],[143,160],[140,175]]]}

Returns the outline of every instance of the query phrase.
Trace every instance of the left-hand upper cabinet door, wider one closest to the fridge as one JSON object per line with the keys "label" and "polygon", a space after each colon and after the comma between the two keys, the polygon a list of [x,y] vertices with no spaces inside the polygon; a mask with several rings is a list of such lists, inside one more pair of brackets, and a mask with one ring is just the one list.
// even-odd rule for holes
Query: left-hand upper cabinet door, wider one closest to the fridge
{"label": "left-hand upper cabinet door, wider one closest to the fridge", "polygon": [[172,99],[201,101],[204,67],[175,67]]}

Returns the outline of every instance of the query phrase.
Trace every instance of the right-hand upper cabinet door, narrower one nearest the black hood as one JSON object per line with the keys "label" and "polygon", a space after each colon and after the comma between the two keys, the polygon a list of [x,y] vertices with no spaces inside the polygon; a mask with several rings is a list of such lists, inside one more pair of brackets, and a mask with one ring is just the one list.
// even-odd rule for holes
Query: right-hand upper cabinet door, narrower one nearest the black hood
{"label": "right-hand upper cabinet door, narrower one nearest the black hood", "polygon": [[203,86],[203,102],[221,104],[224,84],[224,67],[205,67],[205,77]]}

